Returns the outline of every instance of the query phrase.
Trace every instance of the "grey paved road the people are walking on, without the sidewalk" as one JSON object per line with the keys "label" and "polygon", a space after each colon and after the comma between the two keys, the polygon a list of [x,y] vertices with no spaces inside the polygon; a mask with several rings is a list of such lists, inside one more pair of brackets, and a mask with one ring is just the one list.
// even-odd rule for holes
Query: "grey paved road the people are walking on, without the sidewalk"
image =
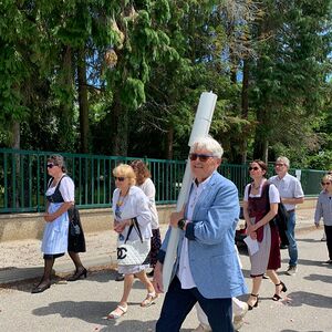
{"label": "grey paved road the people are walking on, without the sidewalk", "polygon": [[[287,268],[287,250],[282,250],[280,276],[289,288],[287,298],[273,302],[273,286],[264,280],[257,309],[248,312],[243,332],[330,332],[332,331],[332,266],[326,260],[322,230],[302,230],[298,234],[300,261],[294,277],[283,273]],[[243,273],[250,287],[249,259],[241,251]],[[163,298],[151,308],[142,309],[139,302],[145,290],[136,281],[131,293],[128,313],[116,322],[103,319],[121,298],[122,282],[114,281],[114,271],[104,269],[90,272],[89,278],[72,283],[58,282],[41,294],[31,294],[31,282],[15,288],[0,289],[0,331],[27,332],[106,332],[154,331]],[[246,300],[246,297],[243,297]],[[196,328],[194,312],[185,321],[181,331]]]}

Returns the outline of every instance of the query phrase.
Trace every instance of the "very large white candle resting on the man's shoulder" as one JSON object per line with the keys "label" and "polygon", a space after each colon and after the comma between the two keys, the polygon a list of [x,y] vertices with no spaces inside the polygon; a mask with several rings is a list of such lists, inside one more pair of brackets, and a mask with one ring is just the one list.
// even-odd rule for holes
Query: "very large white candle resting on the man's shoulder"
{"label": "very large white candle resting on the man's shoulder", "polygon": [[[200,95],[199,104],[197,107],[190,138],[188,142],[189,147],[193,145],[195,141],[197,141],[200,137],[206,137],[209,133],[214,111],[216,107],[217,102],[217,95],[212,92],[204,92]],[[183,178],[183,185],[180,193],[177,198],[176,204],[176,211],[180,211],[184,207],[184,204],[187,201],[190,184],[191,184],[191,172],[190,172],[190,163],[187,162],[185,175]],[[177,245],[179,240],[179,232],[180,230],[178,228],[172,228],[170,229],[170,236],[167,245],[165,261],[163,266],[163,286],[164,286],[164,292],[167,292],[170,277],[172,277],[172,270],[175,263],[176,259],[176,251],[177,251]]]}

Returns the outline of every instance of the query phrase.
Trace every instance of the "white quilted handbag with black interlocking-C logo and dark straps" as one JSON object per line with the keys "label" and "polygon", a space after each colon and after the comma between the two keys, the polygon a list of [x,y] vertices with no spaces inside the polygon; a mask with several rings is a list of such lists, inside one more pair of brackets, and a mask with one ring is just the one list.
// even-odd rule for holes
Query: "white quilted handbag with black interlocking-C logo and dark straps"
{"label": "white quilted handbag with black interlocking-C logo and dark straps", "polygon": [[[117,264],[118,266],[141,266],[149,263],[151,239],[145,240],[142,237],[141,229],[136,218],[133,218],[133,225],[129,227],[125,240],[117,241]],[[128,237],[133,230],[139,236],[138,240],[131,241]]]}

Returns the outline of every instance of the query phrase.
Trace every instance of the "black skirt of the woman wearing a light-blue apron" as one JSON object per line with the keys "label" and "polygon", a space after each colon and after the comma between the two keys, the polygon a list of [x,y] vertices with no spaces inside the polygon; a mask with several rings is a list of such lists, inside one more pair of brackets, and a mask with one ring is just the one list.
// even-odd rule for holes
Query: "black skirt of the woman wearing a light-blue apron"
{"label": "black skirt of the woman wearing a light-blue apron", "polygon": [[[70,219],[70,226],[69,226],[70,229],[68,232],[68,251],[85,252],[86,251],[85,238],[84,238],[83,227],[81,224],[80,212],[75,206],[70,208],[68,212]],[[79,235],[74,235],[74,232],[71,231],[73,225],[80,228]]]}

